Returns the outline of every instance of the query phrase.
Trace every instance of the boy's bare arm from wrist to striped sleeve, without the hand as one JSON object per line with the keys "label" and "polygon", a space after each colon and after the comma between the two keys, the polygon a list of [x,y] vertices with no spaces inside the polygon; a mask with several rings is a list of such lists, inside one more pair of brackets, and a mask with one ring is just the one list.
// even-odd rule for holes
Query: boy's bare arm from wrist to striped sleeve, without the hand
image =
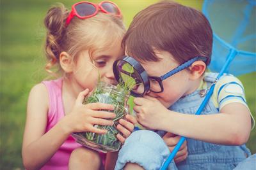
{"label": "boy's bare arm from wrist to striped sleeve, without the hand", "polygon": [[250,136],[250,111],[241,103],[227,104],[212,115],[168,112],[163,129],[180,136],[222,145],[242,145]]}

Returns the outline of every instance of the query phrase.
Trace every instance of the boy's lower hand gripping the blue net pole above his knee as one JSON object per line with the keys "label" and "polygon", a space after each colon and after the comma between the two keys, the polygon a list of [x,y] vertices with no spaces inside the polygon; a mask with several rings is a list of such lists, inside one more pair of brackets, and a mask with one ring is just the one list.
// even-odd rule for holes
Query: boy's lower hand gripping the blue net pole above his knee
{"label": "boy's lower hand gripping the blue net pole above his knee", "polygon": [[[170,152],[172,152],[175,146],[177,145],[177,143],[179,142],[180,136],[167,132],[163,136],[163,139],[166,145],[168,146],[168,148],[170,149]],[[188,157],[188,146],[187,146],[187,141],[184,141],[179,151],[175,155],[174,161],[175,163],[178,163],[185,160],[187,157]]]}

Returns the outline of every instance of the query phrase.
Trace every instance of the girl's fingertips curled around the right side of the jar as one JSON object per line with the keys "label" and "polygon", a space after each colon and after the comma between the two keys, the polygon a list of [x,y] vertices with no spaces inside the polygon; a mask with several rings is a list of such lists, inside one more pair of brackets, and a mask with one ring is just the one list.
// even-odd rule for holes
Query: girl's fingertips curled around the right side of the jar
{"label": "girl's fingertips curled around the right side of the jar", "polygon": [[119,124],[116,126],[116,129],[118,129],[118,131],[120,131],[123,134],[123,136],[120,133],[118,133],[116,135],[116,138],[122,144],[124,144],[125,139],[130,136],[134,129],[134,124],[136,124],[137,121],[136,118],[132,115],[126,115],[125,119],[121,118],[118,122]]}

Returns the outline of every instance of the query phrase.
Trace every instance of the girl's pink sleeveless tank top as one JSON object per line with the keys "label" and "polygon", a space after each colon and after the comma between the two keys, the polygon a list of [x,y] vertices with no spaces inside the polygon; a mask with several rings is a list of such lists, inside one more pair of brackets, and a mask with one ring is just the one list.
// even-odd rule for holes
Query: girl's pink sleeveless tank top
{"label": "girl's pink sleeveless tank top", "polygon": [[[47,115],[47,127],[45,132],[49,131],[54,125],[65,116],[62,101],[62,78],[57,80],[42,81],[47,87],[49,96],[49,111]],[[53,139],[52,139],[53,140]],[[42,170],[67,170],[68,161],[71,152],[81,146],[76,143],[72,136],[68,136],[67,140],[61,145],[59,150],[52,158],[42,167]],[[100,157],[105,162],[106,154],[100,153]]]}

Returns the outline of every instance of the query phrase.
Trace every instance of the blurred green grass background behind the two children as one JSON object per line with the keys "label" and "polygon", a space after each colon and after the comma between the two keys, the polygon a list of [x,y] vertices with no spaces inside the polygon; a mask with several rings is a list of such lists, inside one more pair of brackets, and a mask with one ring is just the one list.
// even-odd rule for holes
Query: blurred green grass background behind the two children
{"label": "blurred green grass background behind the two children", "polygon": [[[26,118],[29,90],[46,76],[43,20],[48,8],[57,1],[1,0],[0,26],[0,169],[24,169],[21,159],[22,134]],[[70,9],[77,1],[58,1]],[[93,1],[99,2],[99,1]],[[157,1],[114,1],[124,15],[128,27],[138,11]],[[179,0],[179,3],[202,8],[203,1]],[[246,99],[255,117],[256,73],[240,76],[246,90]],[[253,153],[256,132],[252,131],[247,145]],[[40,154],[40,153],[35,153]]]}

